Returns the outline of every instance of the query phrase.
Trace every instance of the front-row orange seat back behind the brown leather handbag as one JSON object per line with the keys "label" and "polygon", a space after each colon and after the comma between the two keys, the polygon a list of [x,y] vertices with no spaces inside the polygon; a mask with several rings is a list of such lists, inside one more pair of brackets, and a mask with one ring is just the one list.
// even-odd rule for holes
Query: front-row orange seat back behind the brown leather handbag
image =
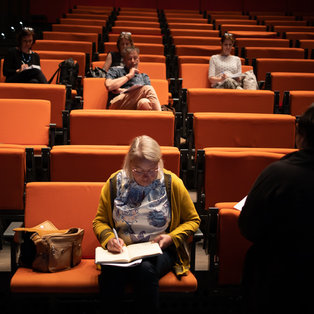
{"label": "front-row orange seat back behind the brown leather handbag", "polygon": [[84,229],[82,257],[94,258],[99,242],[93,232],[104,182],[32,182],[26,185],[25,227],[50,220],[57,228]]}

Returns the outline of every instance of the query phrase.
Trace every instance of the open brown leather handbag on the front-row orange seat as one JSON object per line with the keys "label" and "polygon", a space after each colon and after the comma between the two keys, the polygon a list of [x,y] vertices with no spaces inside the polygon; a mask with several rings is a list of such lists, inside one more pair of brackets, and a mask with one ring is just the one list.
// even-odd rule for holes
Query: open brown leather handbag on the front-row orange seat
{"label": "open brown leather handbag on the front-row orange seat", "polygon": [[84,229],[58,230],[46,221],[33,228],[17,228],[15,231],[31,233],[29,238],[35,248],[32,268],[35,271],[56,272],[81,262]]}

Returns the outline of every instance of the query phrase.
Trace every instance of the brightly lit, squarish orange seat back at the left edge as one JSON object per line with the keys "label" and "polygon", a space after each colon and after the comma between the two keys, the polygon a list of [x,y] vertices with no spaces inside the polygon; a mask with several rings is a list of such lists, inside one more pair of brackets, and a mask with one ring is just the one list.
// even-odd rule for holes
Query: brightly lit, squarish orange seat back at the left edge
{"label": "brightly lit, squarish orange seat back at the left edge", "polygon": [[0,142],[48,145],[50,101],[0,99]]}

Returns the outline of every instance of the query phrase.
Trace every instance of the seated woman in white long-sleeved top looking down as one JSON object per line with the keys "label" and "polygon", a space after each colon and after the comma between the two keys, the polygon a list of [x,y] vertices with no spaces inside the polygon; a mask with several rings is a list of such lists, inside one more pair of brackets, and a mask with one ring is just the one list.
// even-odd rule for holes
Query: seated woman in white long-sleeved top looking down
{"label": "seated woman in white long-sleeved top looking down", "polygon": [[221,53],[211,56],[209,60],[208,79],[211,87],[215,88],[237,88],[240,85],[241,60],[231,55],[235,39],[232,34],[225,33],[221,37]]}

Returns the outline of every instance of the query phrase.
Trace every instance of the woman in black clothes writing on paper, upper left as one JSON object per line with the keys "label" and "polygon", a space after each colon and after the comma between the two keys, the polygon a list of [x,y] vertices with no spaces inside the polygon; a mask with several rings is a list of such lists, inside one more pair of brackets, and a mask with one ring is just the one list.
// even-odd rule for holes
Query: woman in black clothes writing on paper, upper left
{"label": "woman in black clothes writing on paper, upper left", "polygon": [[8,50],[3,63],[3,75],[8,83],[42,83],[47,79],[40,69],[40,58],[33,52],[35,32],[30,27],[24,27],[18,34],[18,47]]}

